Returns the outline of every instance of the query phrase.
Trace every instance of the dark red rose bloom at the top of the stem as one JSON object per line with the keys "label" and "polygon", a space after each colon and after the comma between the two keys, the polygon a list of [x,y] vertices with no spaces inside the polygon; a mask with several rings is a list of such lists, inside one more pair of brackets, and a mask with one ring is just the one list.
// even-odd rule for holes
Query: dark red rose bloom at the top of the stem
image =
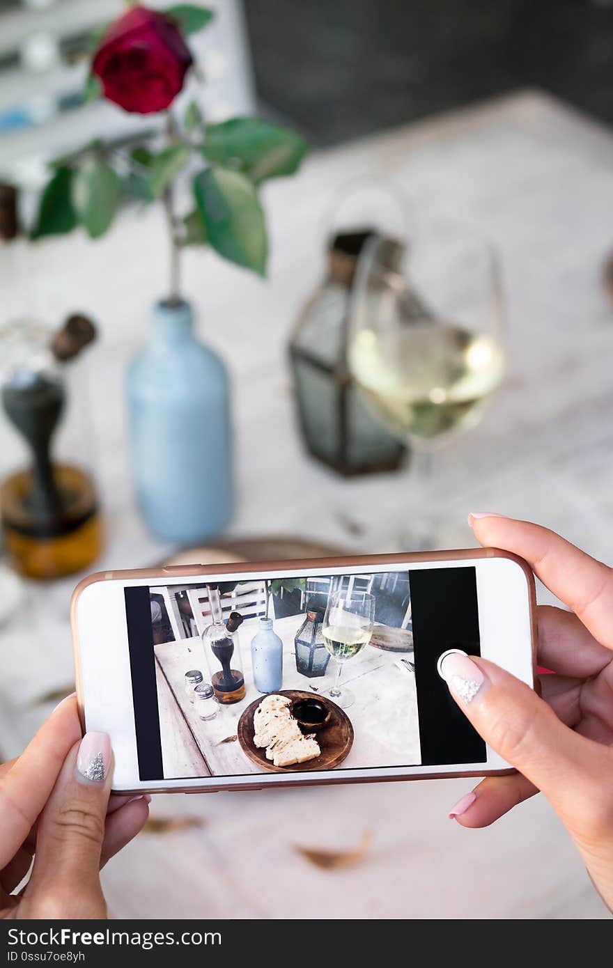
{"label": "dark red rose bloom at the top of the stem", "polygon": [[181,88],[192,55],[178,29],[163,14],[132,7],[109,27],[93,72],[108,101],[138,114],[164,110]]}

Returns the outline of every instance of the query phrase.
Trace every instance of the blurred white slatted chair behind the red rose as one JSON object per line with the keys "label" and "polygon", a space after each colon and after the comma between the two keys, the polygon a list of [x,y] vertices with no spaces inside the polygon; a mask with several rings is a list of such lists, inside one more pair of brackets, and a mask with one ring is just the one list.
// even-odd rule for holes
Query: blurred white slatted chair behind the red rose
{"label": "blurred white slatted chair behind the red rose", "polygon": [[[168,8],[168,0],[148,0]],[[255,93],[241,0],[207,0],[215,17],[189,38],[194,73],[177,98],[196,100],[209,121],[251,114]],[[5,5],[6,7],[6,5]],[[86,64],[79,55],[95,29],[122,14],[119,0],[12,4],[0,11],[0,150],[3,178],[38,188],[46,162],[94,137],[156,132],[162,118],[128,114],[100,99],[81,104]]]}

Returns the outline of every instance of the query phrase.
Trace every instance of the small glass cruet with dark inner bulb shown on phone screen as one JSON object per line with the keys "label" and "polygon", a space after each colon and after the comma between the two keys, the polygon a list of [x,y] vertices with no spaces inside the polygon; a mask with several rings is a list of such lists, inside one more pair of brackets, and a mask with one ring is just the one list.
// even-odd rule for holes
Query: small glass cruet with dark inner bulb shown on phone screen
{"label": "small glass cruet with dark inner bulb shown on phone screen", "polygon": [[224,622],[219,586],[207,585],[206,588],[212,622],[202,632],[202,646],[210,681],[218,702],[224,705],[239,703],[245,698],[245,677],[238,642],[238,627],[243,617],[239,612],[230,612],[228,621]]}

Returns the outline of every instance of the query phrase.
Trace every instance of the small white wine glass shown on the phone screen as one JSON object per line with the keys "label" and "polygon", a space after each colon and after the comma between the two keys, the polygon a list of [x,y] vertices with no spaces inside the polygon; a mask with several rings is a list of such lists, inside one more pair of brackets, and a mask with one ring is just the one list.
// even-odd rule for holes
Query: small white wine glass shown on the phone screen
{"label": "small white wine glass shown on the phone screen", "polygon": [[330,697],[342,709],[352,706],[355,697],[349,689],[341,692],[343,665],[368,645],[375,624],[375,598],[368,591],[354,589],[331,593],[323,618],[325,648],[338,662]]}

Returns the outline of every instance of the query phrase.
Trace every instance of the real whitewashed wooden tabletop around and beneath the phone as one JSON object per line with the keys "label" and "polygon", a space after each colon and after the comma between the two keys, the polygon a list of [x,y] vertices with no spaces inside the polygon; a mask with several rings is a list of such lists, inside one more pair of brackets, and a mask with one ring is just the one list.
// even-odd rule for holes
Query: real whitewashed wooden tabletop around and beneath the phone
{"label": "real whitewashed wooden tabletop around and beneath the phone", "polygon": [[[522,515],[611,560],[613,313],[599,273],[613,245],[613,136],[538,92],[492,101],[314,155],[266,187],[269,281],[189,253],[185,294],[199,332],[233,378],[238,506],[234,533],[293,532],[348,548],[395,549],[412,506],[410,477],[346,481],[309,461],[291,410],[285,346],[322,271],[322,219],[354,175],[395,179],[426,213],[471,220],[500,246],[509,373],[482,424],[442,455],[432,499],[445,540],[471,545],[468,510]],[[51,318],[99,319],[91,391],[108,544],[100,567],[136,567],[169,549],[135,513],[126,445],[126,363],[164,295],[162,216],[130,214],[104,239],[41,243],[28,289]],[[408,508],[407,510],[404,510]],[[29,609],[0,638],[0,742],[15,754],[46,710],[32,700],[72,680],[74,580],[28,587]],[[547,600],[547,596],[543,596]],[[606,913],[542,798],[476,832],[447,820],[470,780],[157,797],[154,814],[205,825],[141,835],[107,865],[116,917],[602,918]],[[362,864],[322,871],[293,845],[352,847]],[[169,885],[172,885],[169,890]],[[467,890],[470,886],[470,890]]]}

